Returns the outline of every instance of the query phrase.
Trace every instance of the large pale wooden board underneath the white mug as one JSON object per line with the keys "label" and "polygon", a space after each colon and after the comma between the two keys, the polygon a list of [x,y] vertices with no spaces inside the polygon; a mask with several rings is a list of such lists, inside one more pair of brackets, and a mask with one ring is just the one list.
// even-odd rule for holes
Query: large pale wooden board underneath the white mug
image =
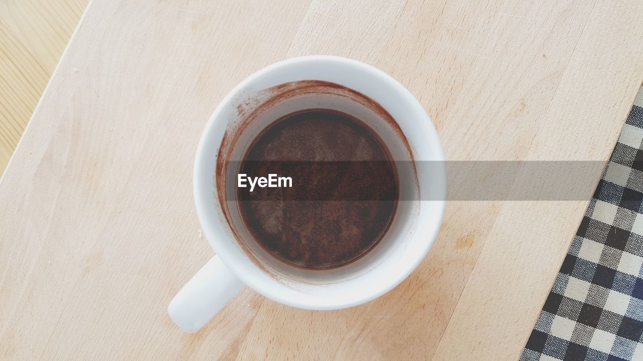
{"label": "large pale wooden board underneath the white mug", "polygon": [[[449,202],[429,256],[376,301],[311,312],[244,289],[180,331],[167,304],[213,256],[192,200],[199,135],[245,76],[324,53],[406,85],[448,159],[604,161],[643,80],[641,13],[94,0],[0,181],[0,358],[516,360],[587,201]],[[587,200],[598,179],[577,185]]]}

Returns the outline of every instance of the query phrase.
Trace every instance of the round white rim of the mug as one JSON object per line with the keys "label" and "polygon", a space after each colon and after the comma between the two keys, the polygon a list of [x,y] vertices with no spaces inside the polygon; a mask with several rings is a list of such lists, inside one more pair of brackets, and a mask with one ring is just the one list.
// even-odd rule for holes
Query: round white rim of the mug
{"label": "round white rim of the mug", "polygon": [[[442,150],[442,145],[440,143],[440,139],[437,135],[437,132],[435,130],[435,127],[433,126],[433,122],[431,121],[430,116],[426,113],[426,110],[424,110],[424,107],[422,107],[421,103],[411,94],[406,87],[404,87],[402,84],[397,82],[392,76],[386,74],[385,72],[377,69],[376,67],[370,66],[368,64],[365,64],[363,62],[359,62],[357,60],[352,60],[349,58],[344,58],[344,57],[336,57],[336,56],[331,56],[331,55],[308,55],[308,56],[303,56],[303,57],[295,57],[295,58],[289,58],[286,60],[282,60],[280,62],[276,62],[275,64],[271,64],[267,67],[264,67],[257,72],[249,75],[247,78],[242,80],[238,85],[236,85],[224,98],[221,100],[219,105],[217,105],[216,109],[213,111],[212,116],[210,116],[210,119],[208,119],[208,122],[203,130],[203,134],[201,134],[201,139],[199,140],[199,145],[197,146],[197,152],[195,156],[195,161],[194,161],[194,173],[193,173],[193,190],[194,190],[194,198],[195,198],[195,207],[197,210],[197,216],[199,218],[199,222],[201,224],[201,228],[203,229],[203,233],[206,236],[206,239],[208,240],[208,243],[210,243],[210,247],[214,249],[214,251],[217,253],[217,256],[221,258],[221,261],[228,267],[228,269],[235,274],[240,281],[242,281],[245,285],[247,285],[249,288],[255,290],[255,292],[258,292],[259,294],[262,294],[269,299],[272,299],[273,301],[282,303],[282,304],[287,304],[289,306],[294,306],[298,308],[305,308],[305,309],[311,309],[311,310],[333,310],[333,309],[339,309],[339,308],[346,308],[350,306],[355,306],[357,304],[362,304],[366,303],[368,301],[371,301],[372,299],[375,299],[379,297],[380,295],[385,294],[389,290],[392,290],[395,286],[399,285],[401,281],[406,279],[413,270],[417,268],[417,266],[421,263],[422,260],[424,260],[426,254],[430,250],[431,246],[433,245],[433,242],[435,241],[435,238],[437,237],[437,233],[440,229],[440,225],[442,224],[442,217],[444,215],[444,209],[446,207],[446,202],[444,201],[444,197],[440,198],[439,200],[419,200],[419,202],[433,202],[437,204],[437,214],[435,214],[435,222],[431,222],[431,225],[419,225],[418,229],[421,231],[424,231],[424,236],[426,238],[425,242],[425,247],[421,249],[421,252],[417,253],[417,256],[414,258],[413,262],[405,263],[404,265],[399,265],[399,269],[397,271],[398,276],[395,277],[393,281],[390,281],[386,284],[378,285],[377,290],[374,292],[370,292],[370,294],[365,294],[363,297],[355,298],[352,299],[351,301],[345,301],[345,302],[338,302],[338,303],[329,303],[327,301],[321,303],[316,300],[310,299],[306,302],[301,302],[299,300],[293,300],[289,299],[287,297],[282,297],[278,289],[275,287],[266,287],[262,283],[262,281],[256,279],[254,276],[250,274],[250,272],[246,272],[247,269],[246,267],[242,265],[238,265],[235,262],[230,261],[230,258],[233,257],[231,252],[228,252],[228,249],[224,247],[221,242],[221,238],[227,238],[227,234],[221,234],[217,233],[216,229],[220,229],[221,227],[230,227],[230,225],[227,224],[227,222],[224,222],[224,220],[221,220],[217,215],[210,215],[210,211],[208,211],[208,207],[204,204],[204,200],[213,200],[212,196],[212,188],[213,192],[217,192],[216,185],[215,185],[215,180],[214,179],[208,179],[208,174],[209,170],[204,169],[203,167],[206,166],[206,164],[209,164],[208,161],[204,161],[203,157],[215,157],[215,155],[210,154],[209,152],[205,152],[206,148],[212,148],[211,143],[212,140],[210,138],[213,137],[213,132],[216,130],[217,127],[223,126],[224,128],[227,128],[228,126],[228,120],[220,119],[221,118],[221,111],[222,109],[229,107],[230,103],[234,103],[235,100],[244,92],[246,89],[249,88],[249,85],[253,84],[253,82],[256,82],[257,79],[261,78],[262,76],[265,76],[267,73],[271,73],[275,71],[276,69],[281,69],[284,67],[291,67],[291,66],[296,66],[298,64],[302,64],[305,62],[314,62],[314,63],[323,63],[323,62],[332,62],[334,64],[337,64],[338,62],[341,63],[342,66],[347,66],[347,67],[353,67],[356,69],[359,69],[360,71],[363,71],[365,73],[368,73],[370,76],[376,76],[379,78],[380,81],[383,81],[386,83],[386,86],[391,89],[391,91],[394,92],[399,92],[403,96],[403,98],[406,98],[406,100],[409,101],[409,103],[414,107],[416,112],[419,112],[421,114],[421,117],[423,119],[419,119],[417,121],[417,127],[419,128],[419,131],[423,132],[428,141],[428,146],[431,148],[430,152],[432,154],[432,160],[435,161],[441,161],[441,163],[444,163],[444,153]],[[323,79],[318,79],[318,80],[323,80]],[[219,143],[221,143],[219,141]],[[220,144],[217,144],[217,149],[220,146]],[[444,175],[444,192],[446,192],[446,171],[443,173]],[[204,189],[210,188],[211,191],[209,193],[205,193]],[[214,200],[213,200],[214,201]],[[215,208],[220,209],[221,205],[219,202],[216,202]],[[222,225],[225,223],[224,225]],[[219,227],[217,224],[221,225]],[[429,228],[431,227],[431,228]],[[247,254],[244,254],[246,258],[249,258]],[[254,265],[254,267],[257,267],[257,265]],[[260,272],[267,273],[265,270],[261,270],[259,267],[257,269]],[[285,285],[284,285],[285,286]]]}

